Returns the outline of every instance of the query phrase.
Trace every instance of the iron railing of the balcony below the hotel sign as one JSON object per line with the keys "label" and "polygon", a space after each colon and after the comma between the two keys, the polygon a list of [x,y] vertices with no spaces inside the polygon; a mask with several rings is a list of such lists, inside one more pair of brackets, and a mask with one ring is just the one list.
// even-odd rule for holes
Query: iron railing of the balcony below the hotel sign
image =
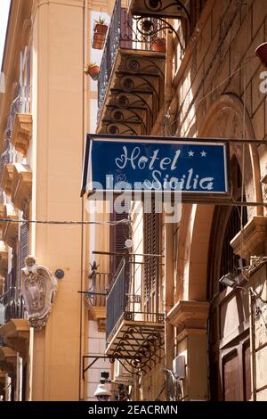
{"label": "iron railing of the balcony below the hotel sign", "polygon": [[[107,296],[107,341],[115,333],[120,322],[130,320],[134,322],[162,323],[164,315],[159,312],[157,305],[151,309],[145,304],[147,298],[146,286],[143,283],[143,273],[136,277],[137,266],[143,268],[143,263],[133,261],[133,269],[129,268],[129,261],[122,259],[117,267],[117,273],[109,287]],[[131,264],[131,262],[130,262]],[[134,275],[131,275],[131,271]]]}

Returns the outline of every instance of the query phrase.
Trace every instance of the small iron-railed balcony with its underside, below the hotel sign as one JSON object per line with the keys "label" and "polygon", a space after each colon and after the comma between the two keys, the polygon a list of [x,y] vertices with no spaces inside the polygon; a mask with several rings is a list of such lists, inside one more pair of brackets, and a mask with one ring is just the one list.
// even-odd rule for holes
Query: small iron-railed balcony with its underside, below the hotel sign
{"label": "small iron-railed balcony with its underside, below the hotel sign", "polygon": [[142,271],[143,262],[122,259],[107,296],[106,355],[125,359],[134,372],[150,371],[164,356],[165,317],[144,303]]}

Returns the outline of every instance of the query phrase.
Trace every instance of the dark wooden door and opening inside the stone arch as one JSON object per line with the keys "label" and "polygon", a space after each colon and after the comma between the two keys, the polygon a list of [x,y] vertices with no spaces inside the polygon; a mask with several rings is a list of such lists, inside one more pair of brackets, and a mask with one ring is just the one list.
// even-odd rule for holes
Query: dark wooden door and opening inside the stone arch
{"label": "dark wooden door and opening inside the stone arch", "polygon": [[[241,172],[231,160],[231,183],[236,201],[241,199]],[[231,239],[247,223],[246,207],[216,206],[210,236],[208,284],[210,314],[209,381],[212,400],[246,401],[251,398],[249,307],[247,292],[230,289],[220,278],[229,273],[242,281],[243,261],[231,248]],[[245,262],[245,261],[244,261]]]}

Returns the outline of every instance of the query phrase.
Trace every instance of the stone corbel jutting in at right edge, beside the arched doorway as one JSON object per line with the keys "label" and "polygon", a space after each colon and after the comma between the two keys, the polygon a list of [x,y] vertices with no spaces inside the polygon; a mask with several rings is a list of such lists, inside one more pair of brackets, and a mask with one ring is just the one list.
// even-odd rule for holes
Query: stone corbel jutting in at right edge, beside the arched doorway
{"label": "stone corbel jutting in at right edge, beside the arched doorway", "polygon": [[251,256],[266,255],[267,218],[254,217],[231,240],[231,247],[236,255],[249,260]]}

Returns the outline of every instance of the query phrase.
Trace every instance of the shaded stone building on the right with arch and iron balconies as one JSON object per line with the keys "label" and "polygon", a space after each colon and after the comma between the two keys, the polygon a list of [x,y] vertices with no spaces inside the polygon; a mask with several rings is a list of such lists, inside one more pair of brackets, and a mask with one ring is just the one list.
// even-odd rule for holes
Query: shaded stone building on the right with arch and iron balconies
{"label": "shaded stone building on the right with arch and iron balconies", "polygon": [[[257,0],[116,2],[97,132],[241,140],[230,144],[227,204],[182,204],[174,224],[131,204],[130,254],[107,297],[121,398],[266,399],[266,74],[255,54],[266,13]],[[110,244],[123,255],[124,242]]]}

